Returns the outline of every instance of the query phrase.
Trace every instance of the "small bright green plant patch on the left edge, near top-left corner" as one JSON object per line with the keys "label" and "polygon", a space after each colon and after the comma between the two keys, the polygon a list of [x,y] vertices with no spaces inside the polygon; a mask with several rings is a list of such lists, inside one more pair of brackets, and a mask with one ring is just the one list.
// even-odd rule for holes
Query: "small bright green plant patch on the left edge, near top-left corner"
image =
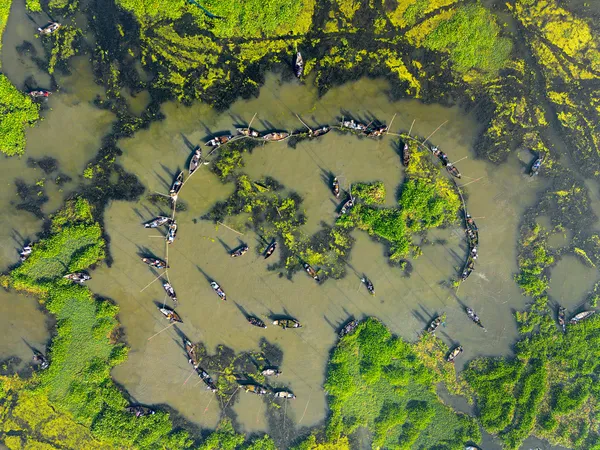
{"label": "small bright green plant patch on the left edge, near top-left corner", "polygon": [[[2,17],[0,27],[3,25],[1,20]],[[38,119],[39,107],[0,74],[0,151],[8,156],[22,154],[25,150],[25,127]]]}

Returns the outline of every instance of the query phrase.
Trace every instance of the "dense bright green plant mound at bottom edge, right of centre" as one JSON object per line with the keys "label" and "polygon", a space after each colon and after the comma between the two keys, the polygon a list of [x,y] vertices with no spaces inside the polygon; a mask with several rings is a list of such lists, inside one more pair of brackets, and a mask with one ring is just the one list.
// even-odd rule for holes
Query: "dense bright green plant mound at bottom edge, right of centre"
{"label": "dense bright green plant mound at bottom edge, right of centre", "polygon": [[[453,372],[451,364],[445,366]],[[340,340],[329,362],[327,442],[360,427],[371,430],[374,448],[462,449],[479,441],[475,422],[438,399],[440,381],[413,345],[367,319]]]}

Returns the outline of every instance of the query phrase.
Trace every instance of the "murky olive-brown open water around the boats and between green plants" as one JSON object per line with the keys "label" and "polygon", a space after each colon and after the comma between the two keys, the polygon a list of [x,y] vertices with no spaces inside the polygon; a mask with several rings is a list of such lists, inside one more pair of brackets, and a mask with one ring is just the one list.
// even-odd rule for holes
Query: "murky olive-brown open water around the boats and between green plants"
{"label": "murky olive-brown open water around the boats and between green plants", "polygon": [[[3,67],[10,67],[7,74],[22,87],[27,76],[37,79],[39,73],[10,45],[21,42],[30,31],[12,17],[6,32],[9,40],[5,37]],[[46,213],[60,206],[81,180],[86,162],[97,151],[113,121],[110,113],[91,104],[100,88],[93,83],[86,58],[75,59],[73,74],[59,77],[59,84],[65,88],[49,99],[51,110],[44,113],[45,120],[27,133],[27,157],[54,157],[60,171],[73,178],[60,188],[46,183],[50,199],[43,207]],[[462,183],[478,179],[464,191],[468,209],[480,228],[480,256],[476,271],[458,291],[449,289],[447,282],[456,277],[466,255],[464,231],[459,225],[429,233],[422,245],[423,255],[413,261],[410,278],[388,265],[381,244],[356,231],[346,278],[317,285],[304,273],[298,273],[290,281],[267,270],[265,261],[254,251],[257,236],[239,236],[200,220],[216,201],[227,198],[233,191],[232,184],[222,184],[206,167],[201,167],[185,184],[180,199],[188,210],[177,214],[179,231],[168,253],[169,278],[180,300],[177,311],[184,321],[180,329],[192,341],[202,341],[210,353],[219,345],[236,353],[257,351],[261,339],[280,347],[283,375],[273,385],[288,387],[297,395],[282,411],[289,417],[290,433],[295,426],[311,426],[325,418],[322,385],[326,364],[336,342],[336,331],[350,316],[376,316],[394,333],[414,340],[431,318],[445,312],[447,321],[439,336],[450,345],[460,343],[464,347],[457,362],[460,370],[473,357],[511,352],[517,337],[513,313],[527,302],[513,281],[517,231],[522,212],[535,203],[537,193],[544,187],[543,178],[525,175],[529,153],[514,155],[500,166],[476,160],[472,144],[480,125],[475,117],[458,108],[418,101],[390,102],[386,91],[385,82],[365,79],[318,98],[310,83],[282,83],[279,76],[271,75],[258,98],[238,101],[224,113],[200,104],[165,104],[164,121],[119,142],[124,151],[121,163],[140,178],[147,193],[166,193],[174,174],[187,164],[189,143],[199,144],[214,132],[233,131],[234,123],[248,122],[254,113],[258,113],[253,123],[257,129],[297,129],[301,124],[296,113],[315,126],[334,123],[344,111],[358,118],[377,117],[386,123],[396,114],[393,130],[408,131],[414,120],[413,135],[427,136],[444,123],[431,142],[451,160],[460,160],[457,166],[464,175]],[[131,101],[138,110],[144,108],[144,97]],[[319,140],[302,142],[296,149],[286,143],[258,147],[245,156],[243,170],[254,179],[272,176],[298,192],[304,198],[308,216],[305,231],[313,233],[320,228],[320,222],[335,220],[336,204],[322,180],[323,171],[336,174],[343,187],[357,181],[381,180],[388,192],[388,204],[393,204],[404,178],[396,145],[397,139],[391,136],[374,141],[334,131]],[[0,165],[0,179],[5,186],[0,192],[4,269],[17,262],[16,249],[23,241],[33,239],[41,229],[40,220],[15,208],[15,176],[28,183],[44,178],[41,169],[29,168],[25,160],[3,159]],[[151,283],[155,274],[139,261],[139,253],[149,251],[165,257],[162,235],[141,226],[159,212],[160,208],[143,199],[138,203],[115,201],[108,206],[105,225],[114,264],[97,268],[89,285],[95,293],[114,299],[121,308],[119,319],[131,351],[129,359],[113,370],[116,382],[139,403],[168,404],[189,422],[214,427],[220,418],[219,404],[211,401],[213,394],[197,384],[196,377],[186,382],[190,366],[179,335],[169,329],[154,336],[166,325],[155,306],[155,302],[163,302],[164,291],[159,282]],[[227,225],[243,229],[239,220],[228,219]],[[242,258],[231,259],[225,247],[237,246],[239,238],[250,245],[251,251]],[[555,269],[554,290],[570,293],[565,282],[578,271],[577,264],[569,261]],[[370,296],[360,284],[363,273],[373,281],[376,296]],[[593,283],[597,276],[586,272],[585,282]],[[223,286],[227,302],[218,300],[206,277]],[[566,306],[573,306],[582,298],[569,296],[561,300]],[[477,311],[487,333],[469,321],[464,314],[465,305]],[[253,328],[242,310],[263,318],[287,313],[304,326],[285,331],[273,326],[266,330]],[[16,356],[28,361],[31,351],[27,343],[43,348],[49,338],[46,316],[34,299],[4,292],[0,292],[0,312],[0,360]],[[244,431],[268,431],[265,407],[259,397],[241,394],[234,410]],[[490,443],[485,448],[494,446]]]}

